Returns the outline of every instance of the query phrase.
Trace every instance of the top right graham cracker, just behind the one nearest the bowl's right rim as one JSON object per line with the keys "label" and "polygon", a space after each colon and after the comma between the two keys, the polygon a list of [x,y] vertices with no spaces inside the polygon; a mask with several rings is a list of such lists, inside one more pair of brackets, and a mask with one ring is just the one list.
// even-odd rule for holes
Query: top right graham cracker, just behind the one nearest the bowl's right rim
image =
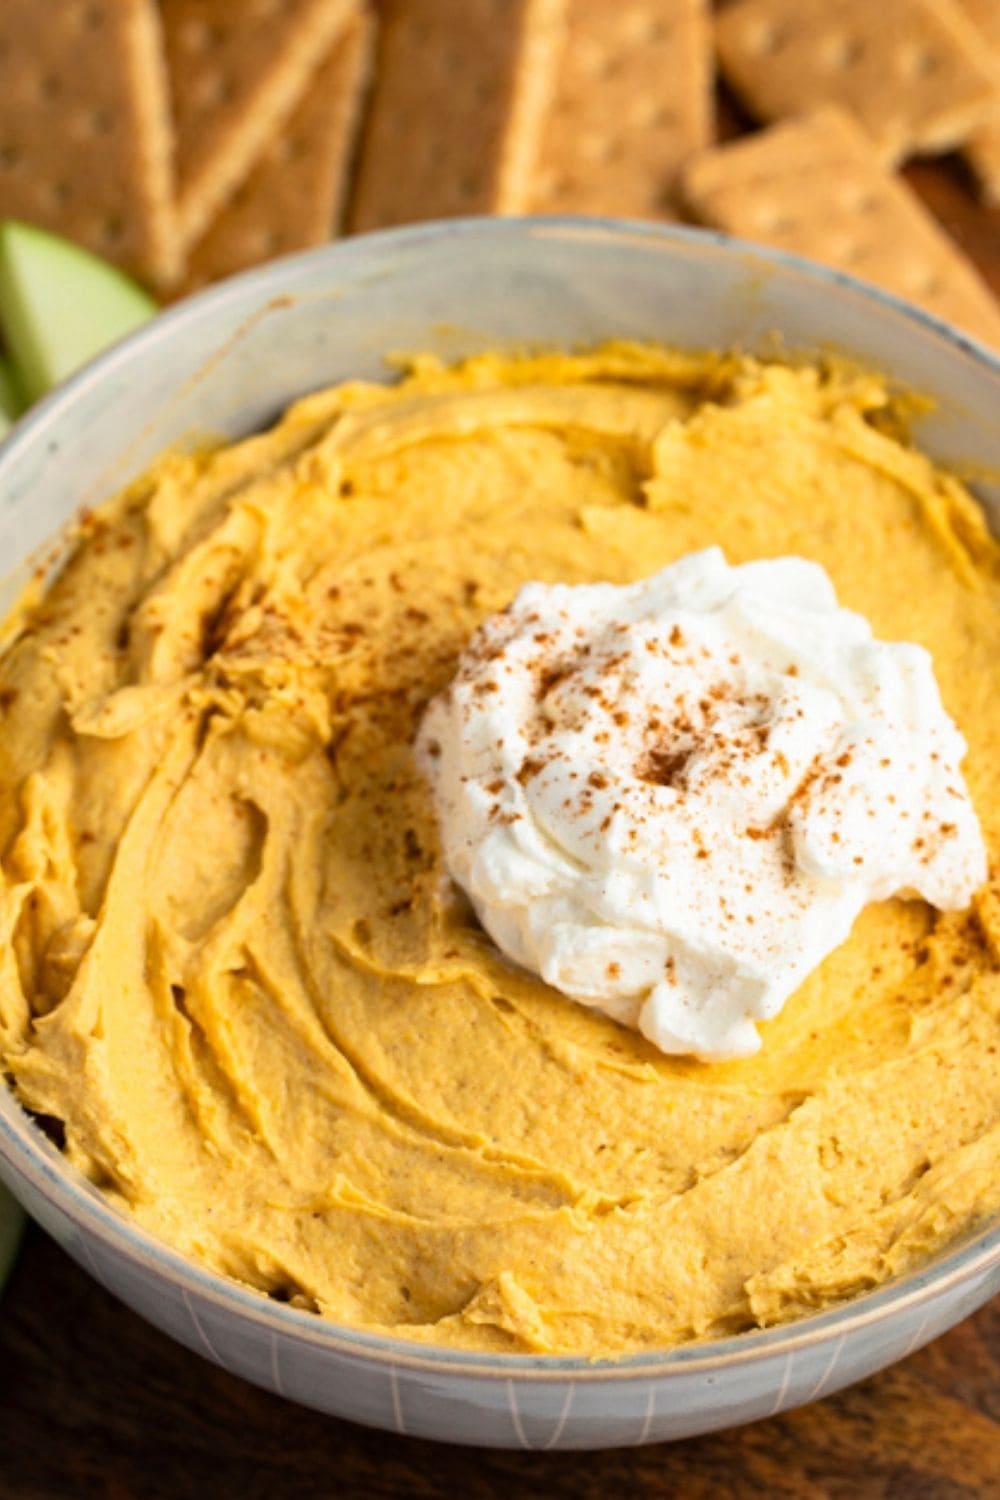
{"label": "top right graham cracker, just behind the one nearest the bowl's right rim", "polygon": [[738,0],[715,42],[756,116],[843,105],[889,164],[960,146],[997,99],[957,0]]}

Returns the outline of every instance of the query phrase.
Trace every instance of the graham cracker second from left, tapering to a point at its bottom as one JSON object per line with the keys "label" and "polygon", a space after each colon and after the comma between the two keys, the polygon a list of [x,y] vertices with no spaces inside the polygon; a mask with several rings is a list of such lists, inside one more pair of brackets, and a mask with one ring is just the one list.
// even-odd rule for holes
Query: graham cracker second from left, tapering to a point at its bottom
{"label": "graham cracker second from left, tapering to a point at its bottom", "polygon": [[160,0],[184,246],[279,134],[358,0]]}

